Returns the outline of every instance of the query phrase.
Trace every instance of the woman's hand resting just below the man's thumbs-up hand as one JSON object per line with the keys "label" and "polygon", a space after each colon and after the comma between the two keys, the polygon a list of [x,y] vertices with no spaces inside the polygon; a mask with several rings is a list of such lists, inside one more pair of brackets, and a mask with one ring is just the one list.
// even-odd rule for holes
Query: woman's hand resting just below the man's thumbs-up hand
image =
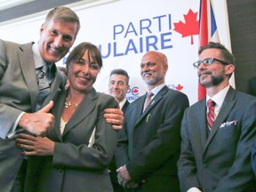
{"label": "woman's hand resting just below the man's thumbs-up hand", "polygon": [[24,156],[52,156],[55,143],[47,137],[36,137],[24,133],[18,134],[17,146],[25,149]]}

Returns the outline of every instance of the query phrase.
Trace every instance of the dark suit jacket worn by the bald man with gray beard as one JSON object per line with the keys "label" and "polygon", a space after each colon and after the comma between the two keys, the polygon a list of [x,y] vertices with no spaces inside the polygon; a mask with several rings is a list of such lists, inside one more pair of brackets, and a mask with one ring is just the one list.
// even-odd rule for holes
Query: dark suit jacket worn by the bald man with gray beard
{"label": "dark suit jacket worn by the bald man with gray beard", "polygon": [[145,99],[134,100],[125,112],[116,165],[126,164],[143,191],[179,191],[180,124],[188,97],[164,86],[141,114]]}

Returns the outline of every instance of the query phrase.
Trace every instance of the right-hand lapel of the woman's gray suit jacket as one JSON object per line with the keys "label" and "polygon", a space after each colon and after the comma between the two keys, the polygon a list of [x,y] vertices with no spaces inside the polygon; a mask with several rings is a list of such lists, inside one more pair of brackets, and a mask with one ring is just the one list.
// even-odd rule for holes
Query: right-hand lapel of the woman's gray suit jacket
{"label": "right-hand lapel of the woman's gray suit jacket", "polygon": [[[66,124],[62,137],[74,128],[76,124],[79,124],[84,120],[84,118],[86,118],[86,116],[92,113],[93,108],[96,106],[96,103],[93,100],[97,98],[97,92],[93,88],[90,92],[86,93],[84,100],[76,108],[75,113],[69,119],[68,124]],[[86,108],[86,110],[84,110],[84,108]]]}

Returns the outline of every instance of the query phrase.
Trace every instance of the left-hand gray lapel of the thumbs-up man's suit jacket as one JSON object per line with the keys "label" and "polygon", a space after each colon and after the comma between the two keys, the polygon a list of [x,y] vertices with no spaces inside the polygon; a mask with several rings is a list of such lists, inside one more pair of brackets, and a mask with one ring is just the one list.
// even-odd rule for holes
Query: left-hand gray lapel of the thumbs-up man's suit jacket
{"label": "left-hand gray lapel of the thumbs-up man's suit jacket", "polygon": [[33,111],[36,111],[36,99],[39,91],[36,84],[36,70],[32,52],[32,44],[33,43],[21,44],[20,52],[18,52],[18,54],[20,58],[20,68],[25,81],[28,84],[32,108]]}

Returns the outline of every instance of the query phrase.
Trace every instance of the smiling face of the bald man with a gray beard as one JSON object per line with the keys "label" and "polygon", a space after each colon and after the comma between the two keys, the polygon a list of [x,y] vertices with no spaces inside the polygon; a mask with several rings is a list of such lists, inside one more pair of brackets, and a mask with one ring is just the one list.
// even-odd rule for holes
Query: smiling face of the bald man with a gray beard
{"label": "smiling face of the bald man with a gray beard", "polygon": [[140,63],[140,75],[152,89],[164,83],[167,72],[167,59],[163,53],[147,52]]}

